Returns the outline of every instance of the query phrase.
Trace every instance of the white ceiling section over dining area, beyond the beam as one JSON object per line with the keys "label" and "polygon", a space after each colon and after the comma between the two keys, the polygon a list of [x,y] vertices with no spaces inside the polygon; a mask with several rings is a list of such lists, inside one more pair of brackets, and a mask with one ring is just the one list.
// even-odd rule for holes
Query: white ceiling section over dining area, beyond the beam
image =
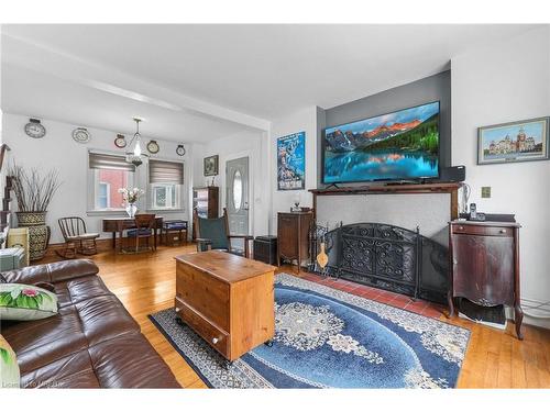
{"label": "white ceiling section over dining area, beyond the beam", "polygon": [[77,82],[7,65],[2,67],[2,108],[7,113],[52,119],[76,126],[132,135],[135,123],[144,136],[206,143],[241,132],[244,126],[221,119],[144,104]]}

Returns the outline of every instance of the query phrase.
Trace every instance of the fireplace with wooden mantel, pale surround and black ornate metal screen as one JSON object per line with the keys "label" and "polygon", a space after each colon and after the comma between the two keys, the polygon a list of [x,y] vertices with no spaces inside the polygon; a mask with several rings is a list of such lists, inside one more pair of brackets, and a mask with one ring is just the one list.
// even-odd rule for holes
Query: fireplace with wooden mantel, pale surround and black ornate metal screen
{"label": "fireplace with wooden mantel, pale surround and black ornate metal screen", "polygon": [[[310,190],[316,222],[336,227],[323,231],[328,275],[447,302],[447,223],[459,215],[461,187],[458,182],[372,183]],[[314,243],[319,235],[317,231]],[[315,257],[317,245],[312,247]],[[319,270],[316,265],[312,269]]]}

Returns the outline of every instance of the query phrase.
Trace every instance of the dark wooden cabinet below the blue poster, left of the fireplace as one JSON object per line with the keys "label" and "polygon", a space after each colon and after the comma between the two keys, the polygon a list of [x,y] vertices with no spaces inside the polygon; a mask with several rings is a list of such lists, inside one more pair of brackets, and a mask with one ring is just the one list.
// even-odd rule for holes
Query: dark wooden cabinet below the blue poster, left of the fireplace
{"label": "dark wooden cabinet below the blue poster, left of the fireplace", "polygon": [[301,263],[309,258],[309,229],[314,213],[309,212],[279,212],[277,215],[277,265],[280,260],[298,261],[298,272]]}

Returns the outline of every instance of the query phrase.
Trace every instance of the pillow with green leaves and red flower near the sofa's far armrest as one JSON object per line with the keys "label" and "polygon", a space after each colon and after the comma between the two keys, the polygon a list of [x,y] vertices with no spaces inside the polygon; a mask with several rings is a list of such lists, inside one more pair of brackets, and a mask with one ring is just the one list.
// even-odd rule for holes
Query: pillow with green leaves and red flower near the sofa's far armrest
{"label": "pillow with green leaves and red flower near the sofa's far armrest", "polygon": [[0,320],[35,321],[57,313],[57,297],[32,285],[0,283]]}

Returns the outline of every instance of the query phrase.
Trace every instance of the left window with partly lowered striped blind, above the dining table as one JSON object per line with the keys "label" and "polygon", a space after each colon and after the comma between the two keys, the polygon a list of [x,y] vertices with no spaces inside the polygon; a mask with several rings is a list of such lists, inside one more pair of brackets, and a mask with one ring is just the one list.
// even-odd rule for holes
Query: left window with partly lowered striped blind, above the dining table
{"label": "left window with partly lowered striped blind, above the dining table", "polygon": [[133,187],[135,167],[124,157],[89,153],[89,210],[118,211],[125,208],[120,188]]}

